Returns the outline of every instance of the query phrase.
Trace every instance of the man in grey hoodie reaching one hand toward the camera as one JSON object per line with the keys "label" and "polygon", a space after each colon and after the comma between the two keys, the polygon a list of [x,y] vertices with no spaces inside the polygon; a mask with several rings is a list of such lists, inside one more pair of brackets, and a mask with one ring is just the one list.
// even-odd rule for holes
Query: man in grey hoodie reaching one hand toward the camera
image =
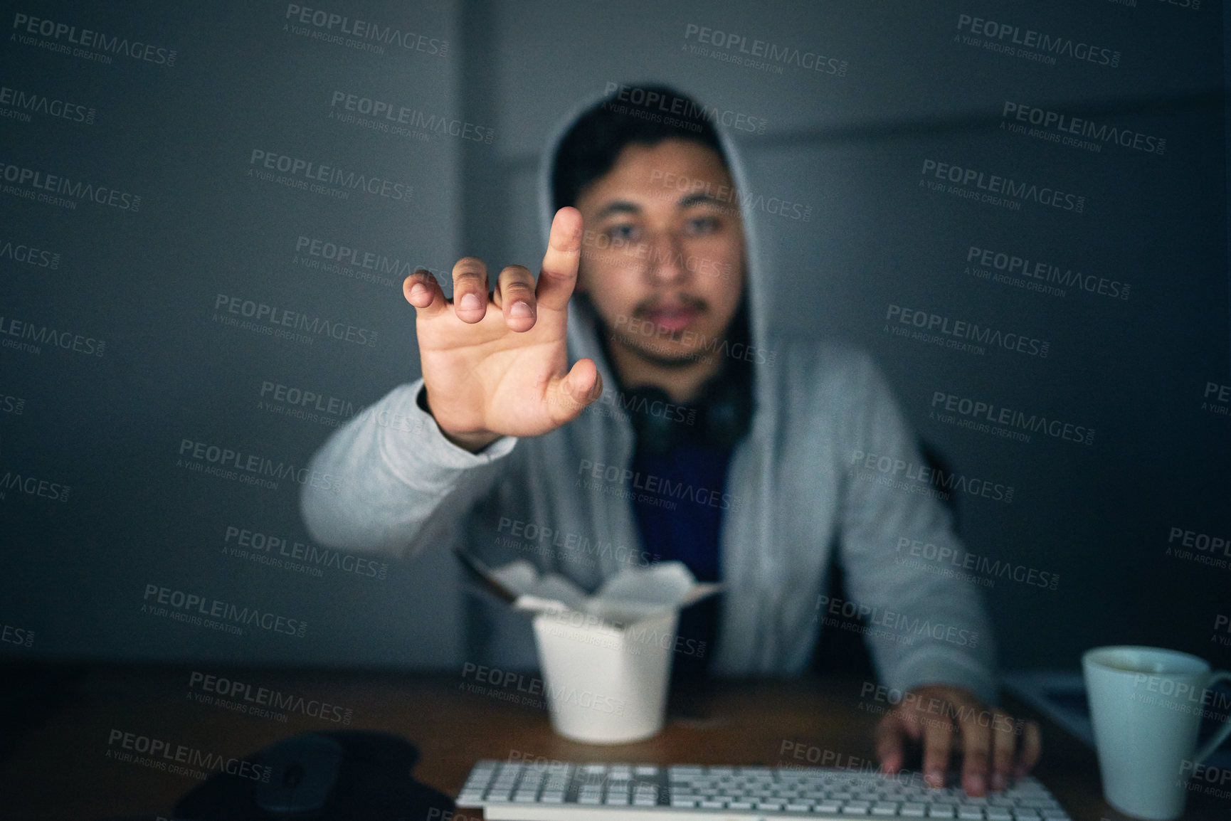
{"label": "man in grey hoodie reaching one hand toward the camera", "polygon": [[[883,684],[907,694],[878,727],[886,772],[911,746],[936,785],[960,753],[974,795],[1027,772],[1038,727],[986,707],[977,593],[895,563],[901,544],[960,550],[926,483],[876,468],[922,468],[913,437],[865,356],[766,326],[753,199],[703,110],[622,87],[544,170],[537,282],[517,265],[491,282],[474,257],[452,299],[427,271],[406,278],[422,378],[316,454],[341,481],[304,487],[313,537],[398,555],[458,539],[587,588],[683,561],[724,593],[682,614],[677,678],[801,672],[821,625],[858,613]],[[835,560],[848,601],[827,595]],[[523,619],[470,615],[475,654],[534,665]]]}

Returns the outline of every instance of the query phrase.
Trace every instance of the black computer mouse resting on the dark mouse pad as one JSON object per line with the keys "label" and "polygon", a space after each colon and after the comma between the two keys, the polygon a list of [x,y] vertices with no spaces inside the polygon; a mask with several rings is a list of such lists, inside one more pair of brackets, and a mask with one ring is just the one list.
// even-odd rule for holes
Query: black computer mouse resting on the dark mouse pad
{"label": "black computer mouse resting on the dark mouse pad", "polygon": [[310,812],[325,806],[334,790],[342,745],[307,732],[266,747],[256,763],[268,768],[268,780],[254,783],[252,800],[260,809],[288,815]]}

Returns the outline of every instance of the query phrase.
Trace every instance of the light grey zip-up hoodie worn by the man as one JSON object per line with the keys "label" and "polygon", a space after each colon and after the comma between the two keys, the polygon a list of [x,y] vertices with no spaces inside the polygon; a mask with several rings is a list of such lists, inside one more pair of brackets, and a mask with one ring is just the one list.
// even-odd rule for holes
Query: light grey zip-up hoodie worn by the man
{"label": "light grey zip-up hoodie worn by the man", "polygon": [[[592,102],[566,118],[544,150],[544,242],[555,146]],[[737,191],[751,191],[725,139],[724,149]],[[938,572],[936,563],[912,558],[920,545],[934,545],[926,547],[927,556],[963,551],[929,484],[937,474],[865,354],[790,340],[766,326],[757,213],[744,209],[751,343],[728,351],[753,364],[756,412],[732,453],[724,495],[627,478],[633,427],[595,318],[574,303],[569,361],[592,358],[604,385],[604,395],[579,419],[471,454],[420,409],[422,379],[398,386],[316,453],[313,468],[339,483],[304,486],[309,533],[339,549],[401,556],[448,549],[457,539],[489,564],[527,559],[593,590],[655,555],[652,544],[641,544],[630,494],[656,494],[664,505],[718,505],[724,595],[715,673],[801,672],[819,630],[858,614],[881,684],[905,692],[952,683],[993,700],[992,636],[979,593]],[[833,561],[846,571],[844,601],[827,596]],[[524,617],[483,597],[470,602],[468,617],[468,660],[537,666]]]}

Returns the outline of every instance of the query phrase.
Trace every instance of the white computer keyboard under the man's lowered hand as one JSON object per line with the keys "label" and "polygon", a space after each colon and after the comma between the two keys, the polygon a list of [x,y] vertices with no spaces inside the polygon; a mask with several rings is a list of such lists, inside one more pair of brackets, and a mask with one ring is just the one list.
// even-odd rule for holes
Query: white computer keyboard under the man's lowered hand
{"label": "white computer keyboard under the man's lowered hand", "polygon": [[1035,778],[970,798],[918,773],[811,767],[656,767],[480,761],[459,807],[487,821],[764,821],[906,817],[1069,821]]}

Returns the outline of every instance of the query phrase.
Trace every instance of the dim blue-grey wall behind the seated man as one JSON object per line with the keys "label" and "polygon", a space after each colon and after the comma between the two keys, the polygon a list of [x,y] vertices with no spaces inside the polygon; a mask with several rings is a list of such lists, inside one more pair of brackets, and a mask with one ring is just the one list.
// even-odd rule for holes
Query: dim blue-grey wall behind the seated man
{"label": "dim blue-grey wall behind the seated man", "polygon": [[[4,327],[20,320],[106,342],[102,356],[0,347],[0,476],[70,487],[66,499],[0,487],[0,623],[33,634],[30,646],[0,643],[0,652],[457,670],[463,597],[444,551],[389,563],[384,579],[228,555],[228,527],[307,542],[299,486],[194,473],[177,465],[181,443],[307,465],[332,426],[419,375],[414,311],[400,293],[407,271],[398,266],[442,272],[474,254],[492,270],[533,267],[548,134],[608,82],[652,80],[763,119],[764,133],[730,130],[750,186],[810,208],[806,222],[745,214],[767,258],[772,326],[867,347],[955,471],[1013,486],[1011,503],[956,499],[971,551],[1060,579],[1056,590],[1003,579],[987,590],[1002,665],[1076,667],[1083,649],[1108,643],[1231,663],[1219,641],[1231,633],[1215,629],[1231,613],[1231,556],[1215,553],[1216,566],[1167,553],[1172,528],[1231,537],[1231,419],[1226,401],[1205,396],[1208,383],[1231,384],[1219,2],[324,9],[425,38],[422,50],[383,54],[298,34],[287,9],[0,6],[10,30],[0,85],[95,112],[86,123],[0,106],[26,114],[0,117],[0,162],[142,197],[135,213],[90,201],[69,209],[0,182],[10,186],[0,249],[59,255],[53,268],[0,251]],[[175,65],[124,55],[103,64],[23,43],[18,14],[175,49]],[[968,46],[963,14],[1094,43],[1119,52],[1119,65],[1046,65]],[[697,57],[684,48],[696,44],[689,25],[820,52],[844,60],[846,74]],[[339,122],[337,91],[465,121],[492,139]],[[1166,151],[1107,143],[1094,153],[1012,134],[1001,128],[1006,101],[1165,138]],[[262,181],[249,175],[254,149],[399,181],[412,196],[335,199]],[[926,159],[1073,192],[1085,208],[1008,210],[928,191]],[[401,273],[363,281],[309,268],[295,260],[300,236],[383,255]],[[1128,283],[1129,297],[980,279],[965,272],[972,245]],[[377,343],[308,345],[225,326],[214,320],[218,294],[374,330]],[[892,336],[890,304],[1046,340],[1049,356]],[[270,410],[265,383],[337,399],[337,410]],[[936,391],[1096,436],[1017,442],[943,423],[929,417]],[[151,617],[142,613],[146,585],[309,627],[303,638],[230,635]]]}

